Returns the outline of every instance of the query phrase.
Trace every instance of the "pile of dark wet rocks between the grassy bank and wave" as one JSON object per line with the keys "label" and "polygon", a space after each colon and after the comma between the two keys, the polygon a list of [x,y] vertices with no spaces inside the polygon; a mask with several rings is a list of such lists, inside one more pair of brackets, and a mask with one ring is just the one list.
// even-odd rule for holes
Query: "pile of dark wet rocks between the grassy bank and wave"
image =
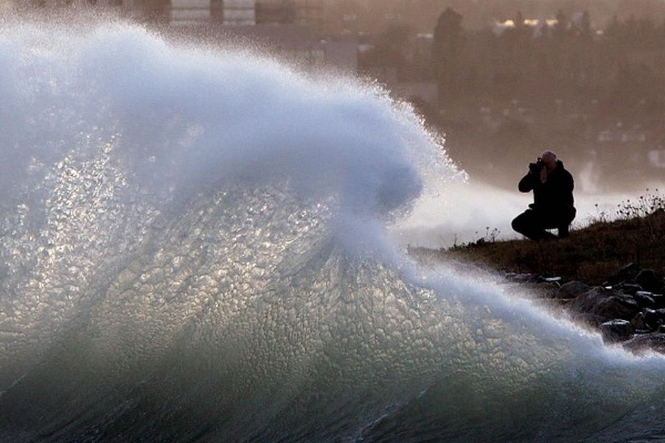
{"label": "pile of dark wet rocks between the grassy bank and wave", "polygon": [[665,354],[665,278],[653,269],[631,263],[599,286],[535,273],[508,273],[506,280],[535,286],[543,300],[598,330],[605,343]]}

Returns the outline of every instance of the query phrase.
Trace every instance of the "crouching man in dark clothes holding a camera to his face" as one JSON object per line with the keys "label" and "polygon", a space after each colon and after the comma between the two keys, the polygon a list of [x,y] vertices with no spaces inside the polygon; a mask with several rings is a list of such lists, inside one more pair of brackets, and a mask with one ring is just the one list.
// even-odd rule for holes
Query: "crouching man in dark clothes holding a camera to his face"
{"label": "crouching man in dark clothes holding a camera to his face", "polygon": [[533,190],[533,204],[513,220],[513,229],[533,240],[556,238],[546,229],[556,228],[558,237],[568,237],[575,218],[573,206],[573,176],[563,168],[562,161],[551,151],[545,151],[535,163],[529,163],[527,173],[517,186],[520,192]]}

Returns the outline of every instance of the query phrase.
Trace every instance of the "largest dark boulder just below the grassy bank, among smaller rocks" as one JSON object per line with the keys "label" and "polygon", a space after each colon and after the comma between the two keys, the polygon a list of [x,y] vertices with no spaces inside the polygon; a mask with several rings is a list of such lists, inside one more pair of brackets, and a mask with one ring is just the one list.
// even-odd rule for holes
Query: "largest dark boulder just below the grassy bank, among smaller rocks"
{"label": "largest dark boulder just below the grassy bank, among smaller rocks", "polygon": [[568,307],[574,311],[593,314],[612,320],[631,320],[639,312],[634,298],[612,289],[594,287],[572,300]]}

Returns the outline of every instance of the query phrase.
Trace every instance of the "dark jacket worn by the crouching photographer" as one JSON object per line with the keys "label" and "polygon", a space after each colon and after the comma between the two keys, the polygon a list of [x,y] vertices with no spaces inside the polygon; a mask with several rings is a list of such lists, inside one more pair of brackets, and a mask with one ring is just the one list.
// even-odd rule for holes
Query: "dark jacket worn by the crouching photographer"
{"label": "dark jacket worn by the crouching photographer", "polygon": [[520,192],[533,190],[533,204],[529,205],[547,217],[557,219],[575,218],[573,199],[573,176],[563,168],[563,162],[556,161],[556,168],[547,175],[547,181],[540,181],[540,174],[529,172],[517,186]]}

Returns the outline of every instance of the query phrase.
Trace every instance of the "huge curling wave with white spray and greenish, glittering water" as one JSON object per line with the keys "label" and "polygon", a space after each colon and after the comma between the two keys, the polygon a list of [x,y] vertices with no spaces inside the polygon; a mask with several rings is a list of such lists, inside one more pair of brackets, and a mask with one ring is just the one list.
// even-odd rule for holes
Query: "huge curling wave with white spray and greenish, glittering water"
{"label": "huge curling wave with white spray and greenish, glittering water", "polygon": [[380,88],[105,19],[0,60],[0,441],[665,438],[662,357],[394,244],[464,174]]}

